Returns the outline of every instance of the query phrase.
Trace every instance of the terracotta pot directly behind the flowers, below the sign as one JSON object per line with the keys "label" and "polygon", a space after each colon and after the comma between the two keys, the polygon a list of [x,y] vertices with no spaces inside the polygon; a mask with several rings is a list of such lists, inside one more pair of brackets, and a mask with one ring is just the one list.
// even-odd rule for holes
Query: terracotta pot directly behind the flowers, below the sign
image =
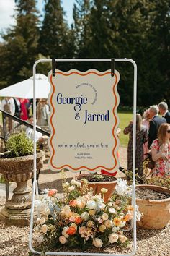
{"label": "terracotta pot directly behind the flowers, below the sign", "polygon": [[91,176],[95,176],[95,174],[80,174],[79,176],[76,176],[76,179],[78,179],[81,183],[84,182],[82,179],[86,179],[88,182],[88,188],[90,189],[91,187],[94,190],[94,195],[101,193],[102,188],[107,189],[107,193],[104,194],[104,202],[107,202],[109,197],[112,196],[112,192],[115,190],[117,178],[115,178],[115,176],[110,176],[106,174],[97,175],[107,177],[108,181],[104,181],[104,179],[102,181],[90,181]]}

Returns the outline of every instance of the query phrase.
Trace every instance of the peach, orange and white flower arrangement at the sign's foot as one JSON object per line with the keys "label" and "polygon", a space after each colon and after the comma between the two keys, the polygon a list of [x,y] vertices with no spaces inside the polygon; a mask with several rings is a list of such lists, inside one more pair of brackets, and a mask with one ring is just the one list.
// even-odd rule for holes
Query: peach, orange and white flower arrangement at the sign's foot
{"label": "peach, orange and white flower arrangement at the sign's foot", "polygon": [[104,203],[107,189],[102,188],[101,194],[93,195],[87,187],[86,182],[65,181],[62,198],[58,198],[56,189],[45,189],[45,195],[36,200],[37,209],[44,213],[35,223],[42,252],[64,245],[81,250],[109,244],[128,245],[123,229],[133,219],[131,187],[117,179],[115,192],[107,203]]}

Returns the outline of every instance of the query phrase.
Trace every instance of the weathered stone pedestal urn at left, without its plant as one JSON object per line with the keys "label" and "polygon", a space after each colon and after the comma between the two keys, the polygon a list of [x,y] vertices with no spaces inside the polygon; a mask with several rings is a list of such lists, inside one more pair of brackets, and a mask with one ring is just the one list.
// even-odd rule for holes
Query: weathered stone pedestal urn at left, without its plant
{"label": "weathered stone pedestal urn at left, without its plant", "polygon": [[[0,219],[7,224],[29,225],[32,188],[28,187],[27,181],[33,176],[34,155],[4,158],[0,154],[0,173],[9,182],[16,182],[11,200],[7,200],[5,208],[1,210]],[[37,152],[37,171],[43,166],[44,153]]]}

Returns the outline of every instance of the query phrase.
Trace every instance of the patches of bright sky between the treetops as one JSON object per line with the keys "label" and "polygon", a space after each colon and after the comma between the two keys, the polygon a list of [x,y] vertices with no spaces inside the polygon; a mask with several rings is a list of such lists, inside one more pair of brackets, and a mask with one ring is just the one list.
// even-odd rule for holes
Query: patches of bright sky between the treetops
{"label": "patches of bright sky between the treetops", "polygon": [[[74,2],[75,0],[61,0],[61,5],[66,12],[66,20],[68,20],[69,25],[73,22],[72,12]],[[43,3],[43,0],[37,0],[37,9],[39,9],[40,12],[43,12]],[[0,31],[5,31],[7,27],[14,25],[14,18],[12,17],[14,7],[14,0],[0,0]]]}

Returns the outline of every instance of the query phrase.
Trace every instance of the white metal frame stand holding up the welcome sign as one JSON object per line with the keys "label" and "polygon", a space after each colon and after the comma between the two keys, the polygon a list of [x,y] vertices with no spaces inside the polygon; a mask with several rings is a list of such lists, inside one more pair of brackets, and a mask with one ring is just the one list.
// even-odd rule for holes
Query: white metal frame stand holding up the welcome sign
{"label": "white metal frame stand holding up the welcome sign", "polygon": [[[41,252],[35,251],[32,247],[32,232],[33,232],[33,215],[35,209],[35,189],[36,195],[38,195],[38,187],[36,180],[36,141],[35,141],[35,132],[36,132],[36,95],[35,95],[35,74],[36,67],[38,63],[42,62],[51,62],[52,59],[39,59],[35,62],[33,66],[33,116],[34,116],[34,182],[32,184],[32,209],[31,209],[31,220],[30,220],[30,239],[29,247],[31,252],[36,254],[41,254]],[[111,62],[112,59],[55,59],[56,62]],[[130,62],[133,64],[133,186],[132,186],[132,205],[135,209],[135,135],[136,135],[136,94],[137,94],[137,65],[133,59],[115,59],[115,62]],[[105,256],[131,256],[134,255],[136,251],[136,216],[134,210],[133,218],[133,251],[130,254],[106,254],[106,253],[84,253],[84,252],[45,252],[45,255],[105,255]]]}

